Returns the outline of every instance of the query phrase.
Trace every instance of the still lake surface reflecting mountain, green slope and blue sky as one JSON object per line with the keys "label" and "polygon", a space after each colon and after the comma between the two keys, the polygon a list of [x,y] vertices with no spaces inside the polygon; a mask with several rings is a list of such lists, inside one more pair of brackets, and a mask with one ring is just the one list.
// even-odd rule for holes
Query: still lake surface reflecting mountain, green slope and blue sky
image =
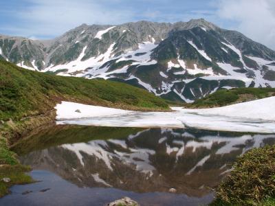
{"label": "still lake surface reflecting mountain, green slope and blue sky", "polygon": [[54,126],[13,146],[41,182],[12,187],[0,205],[106,205],[123,196],[207,205],[238,155],[274,142],[275,135]]}

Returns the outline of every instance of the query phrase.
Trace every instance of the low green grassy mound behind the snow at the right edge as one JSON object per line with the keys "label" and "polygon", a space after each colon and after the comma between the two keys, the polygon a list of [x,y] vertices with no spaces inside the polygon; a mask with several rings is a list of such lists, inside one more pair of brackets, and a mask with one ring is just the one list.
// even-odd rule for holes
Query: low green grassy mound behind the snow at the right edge
{"label": "low green grassy mound behind the snow at the right edge", "polygon": [[221,89],[208,95],[206,98],[196,100],[192,104],[186,104],[190,108],[209,108],[226,106],[240,102],[248,102],[275,95],[274,88],[235,88]]}

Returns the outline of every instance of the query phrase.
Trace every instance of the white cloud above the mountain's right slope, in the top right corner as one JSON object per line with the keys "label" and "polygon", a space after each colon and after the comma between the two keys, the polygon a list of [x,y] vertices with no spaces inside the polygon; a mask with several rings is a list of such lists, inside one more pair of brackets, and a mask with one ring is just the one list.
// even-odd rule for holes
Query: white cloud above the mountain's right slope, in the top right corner
{"label": "white cloud above the mountain's right slope, in the top right corner", "polygon": [[221,0],[217,5],[217,15],[235,21],[234,29],[275,49],[274,0]]}

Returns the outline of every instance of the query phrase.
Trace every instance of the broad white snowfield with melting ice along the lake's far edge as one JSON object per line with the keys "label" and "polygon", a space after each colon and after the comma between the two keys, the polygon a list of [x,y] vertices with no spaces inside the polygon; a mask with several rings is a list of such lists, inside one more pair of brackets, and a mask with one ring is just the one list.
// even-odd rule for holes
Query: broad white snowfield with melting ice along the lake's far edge
{"label": "broad white snowfield with melting ice along the lake's far edge", "polygon": [[275,133],[275,97],[220,108],[173,112],[125,111],[73,102],[56,105],[57,124],[118,127],[199,128],[250,133]]}

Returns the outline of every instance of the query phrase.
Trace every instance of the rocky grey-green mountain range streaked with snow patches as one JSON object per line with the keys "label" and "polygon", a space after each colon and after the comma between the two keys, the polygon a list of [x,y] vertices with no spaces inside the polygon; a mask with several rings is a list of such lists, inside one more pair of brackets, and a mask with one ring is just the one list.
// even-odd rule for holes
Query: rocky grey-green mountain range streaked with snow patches
{"label": "rocky grey-green mountain range streaked with snow patches", "polygon": [[0,58],[61,76],[104,78],[168,100],[218,89],[275,87],[275,52],[204,19],[80,25],[47,41],[0,35]]}

